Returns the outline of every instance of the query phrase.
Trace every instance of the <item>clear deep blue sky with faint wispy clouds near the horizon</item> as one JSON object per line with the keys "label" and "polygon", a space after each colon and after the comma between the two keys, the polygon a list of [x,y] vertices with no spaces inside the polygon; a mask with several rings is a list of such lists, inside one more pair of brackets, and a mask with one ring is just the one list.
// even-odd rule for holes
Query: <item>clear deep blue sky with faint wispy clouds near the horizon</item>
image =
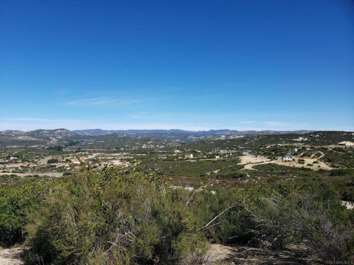
{"label": "clear deep blue sky with faint wispy clouds near the horizon", "polygon": [[354,2],[0,0],[0,130],[354,131]]}

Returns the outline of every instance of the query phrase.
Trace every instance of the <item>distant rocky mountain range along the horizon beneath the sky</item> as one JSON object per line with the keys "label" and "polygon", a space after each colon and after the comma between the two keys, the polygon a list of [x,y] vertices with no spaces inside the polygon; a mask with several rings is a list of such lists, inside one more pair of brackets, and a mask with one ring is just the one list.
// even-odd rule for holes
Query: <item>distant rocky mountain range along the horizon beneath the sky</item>
{"label": "distant rocky mountain range along the horizon beneath the sky", "polygon": [[[33,131],[18,131],[6,130],[0,131],[0,147],[47,147],[47,146],[72,146],[78,142],[119,142],[122,139],[128,141],[136,141],[134,139],[149,138],[162,140],[166,143],[186,144],[197,142],[200,140],[227,140],[236,139],[239,137],[253,137],[258,135],[285,135],[287,138],[293,139],[296,135],[303,134],[304,137],[311,137],[314,131],[296,130],[296,131],[237,131],[237,130],[209,130],[209,131],[184,131],[184,130],[74,130],[55,129],[55,130],[33,130]],[[352,140],[354,133],[348,132],[328,132],[337,135],[338,140]],[[325,131],[316,131],[314,134],[321,134],[326,139]],[[349,135],[349,136],[348,136]],[[122,138],[124,137],[124,138]],[[332,137],[332,136],[331,136]],[[344,137],[344,138],[343,138]],[[130,140],[129,140],[130,139]],[[336,139],[337,141],[337,139]],[[342,140],[343,141],[343,140]]]}

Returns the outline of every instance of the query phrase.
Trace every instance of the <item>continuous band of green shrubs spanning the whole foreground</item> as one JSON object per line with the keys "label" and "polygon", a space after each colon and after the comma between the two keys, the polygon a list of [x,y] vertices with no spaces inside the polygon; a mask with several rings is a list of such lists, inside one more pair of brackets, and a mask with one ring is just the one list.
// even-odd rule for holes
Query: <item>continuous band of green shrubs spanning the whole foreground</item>
{"label": "continuous band of green shrubs spanning the whole foreground", "polygon": [[354,211],[339,188],[316,178],[191,192],[152,173],[82,168],[1,188],[0,245],[27,241],[27,264],[202,264],[208,241],[304,243],[323,261],[344,261],[354,254]]}

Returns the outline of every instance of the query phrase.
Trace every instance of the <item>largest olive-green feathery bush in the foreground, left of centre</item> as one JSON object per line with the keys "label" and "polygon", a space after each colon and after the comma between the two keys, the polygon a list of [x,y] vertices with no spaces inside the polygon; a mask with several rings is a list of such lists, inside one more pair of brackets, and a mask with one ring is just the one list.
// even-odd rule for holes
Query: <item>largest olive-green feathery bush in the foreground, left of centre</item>
{"label": "largest olive-green feathery bush in the foreground, left of centre", "polygon": [[30,214],[28,264],[176,264],[205,250],[184,190],[142,173],[83,169],[74,182]]}

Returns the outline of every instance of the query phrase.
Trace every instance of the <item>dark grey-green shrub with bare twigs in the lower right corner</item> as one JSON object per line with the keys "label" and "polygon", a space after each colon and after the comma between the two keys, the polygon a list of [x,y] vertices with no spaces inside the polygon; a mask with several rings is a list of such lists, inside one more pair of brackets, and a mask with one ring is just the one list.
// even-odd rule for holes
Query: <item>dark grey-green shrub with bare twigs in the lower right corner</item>
{"label": "dark grey-green shrub with bare twigs in the lower right corner", "polygon": [[252,233],[269,247],[304,243],[324,261],[349,260],[354,254],[354,213],[344,209],[338,194],[324,183],[268,198],[252,215],[257,224]]}

